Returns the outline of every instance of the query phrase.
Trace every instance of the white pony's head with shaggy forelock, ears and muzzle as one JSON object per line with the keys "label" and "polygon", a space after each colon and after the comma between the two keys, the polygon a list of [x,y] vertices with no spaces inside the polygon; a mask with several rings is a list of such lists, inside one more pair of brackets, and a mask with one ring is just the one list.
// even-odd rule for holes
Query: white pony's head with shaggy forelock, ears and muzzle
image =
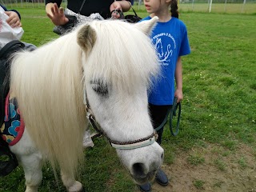
{"label": "white pony's head with shaggy forelock, ears and muzzle", "polygon": [[122,144],[137,141],[116,148],[134,181],[140,184],[154,178],[163,157],[162,147],[149,137],[154,129],[147,101],[150,78],[158,74],[157,56],[147,35],[157,20],[135,25],[111,20],[91,22],[78,30],[91,112],[110,140]]}

